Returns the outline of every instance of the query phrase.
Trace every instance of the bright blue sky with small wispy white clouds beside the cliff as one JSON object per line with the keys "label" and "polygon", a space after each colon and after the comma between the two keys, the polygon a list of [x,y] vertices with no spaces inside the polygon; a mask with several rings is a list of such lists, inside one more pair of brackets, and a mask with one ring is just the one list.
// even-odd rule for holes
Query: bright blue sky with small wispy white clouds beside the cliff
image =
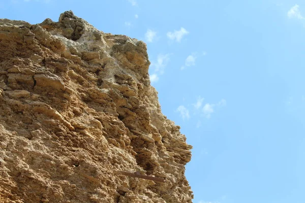
{"label": "bright blue sky with small wispy white clouds beside the cliff", "polygon": [[195,203],[305,202],[305,2],[1,0],[0,18],[72,10],[147,43],[163,113],[193,145]]}

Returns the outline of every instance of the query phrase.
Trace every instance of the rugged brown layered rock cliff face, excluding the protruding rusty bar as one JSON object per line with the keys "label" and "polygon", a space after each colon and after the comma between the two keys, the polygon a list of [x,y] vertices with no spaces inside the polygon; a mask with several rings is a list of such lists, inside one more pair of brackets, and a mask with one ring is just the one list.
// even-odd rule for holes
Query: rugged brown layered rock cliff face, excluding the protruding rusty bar
{"label": "rugged brown layered rock cliff face, excluding the protruding rusty bar", "polygon": [[1,19],[0,202],[192,202],[191,146],[161,113],[149,63],[143,42],[72,11]]}

